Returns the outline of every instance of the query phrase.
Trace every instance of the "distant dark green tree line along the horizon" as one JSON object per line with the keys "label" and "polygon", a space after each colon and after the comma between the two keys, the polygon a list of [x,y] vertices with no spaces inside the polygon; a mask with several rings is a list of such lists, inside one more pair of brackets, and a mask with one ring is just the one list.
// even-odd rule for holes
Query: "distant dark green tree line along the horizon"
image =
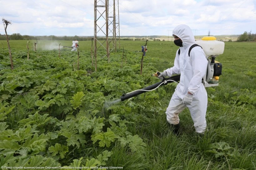
{"label": "distant dark green tree line along the horizon", "polygon": [[[93,36],[55,36],[55,35],[44,35],[44,36],[31,36],[31,35],[21,35],[20,33],[14,33],[12,35],[8,35],[9,40],[78,40],[78,41],[88,41],[92,40]],[[120,36],[122,37],[122,36]],[[123,36],[126,38],[122,38],[122,40],[145,40],[145,36]],[[136,37],[133,39],[132,37]],[[152,36],[147,36],[149,40],[156,40],[159,41],[160,36],[158,35],[152,35]],[[142,38],[142,39],[141,39]],[[97,37],[98,40],[106,40],[106,37]],[[0,34],[0,40],[6,40],[5,34]],[[251,34],[250,32],[248,33],[247,31],[244,31],[243,34],[238,36],[237,39],[238,42],[242,41],[256,41],[256,34]]]}

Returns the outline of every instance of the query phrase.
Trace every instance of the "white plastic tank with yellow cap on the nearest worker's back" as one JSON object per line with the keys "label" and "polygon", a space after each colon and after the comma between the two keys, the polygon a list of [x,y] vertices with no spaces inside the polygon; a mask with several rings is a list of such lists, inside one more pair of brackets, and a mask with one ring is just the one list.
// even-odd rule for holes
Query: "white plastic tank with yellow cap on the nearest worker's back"
{"label": "white plastic tank with yellow cap on the nearest worker's back", "polygon": [[201,40],[197,40],[196,44],[203,48],[206,56],[219,55],[224,52],[224,42],[216,41],[216,38],[213,36],[203,37]]}

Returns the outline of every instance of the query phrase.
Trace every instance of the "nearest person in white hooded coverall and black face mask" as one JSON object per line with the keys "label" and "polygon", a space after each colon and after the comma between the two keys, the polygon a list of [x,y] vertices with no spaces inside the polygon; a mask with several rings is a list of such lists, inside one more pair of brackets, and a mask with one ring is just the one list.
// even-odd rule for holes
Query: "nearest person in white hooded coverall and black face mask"
{"label": "nearest person in white hooded coverall and black face mask", "polygon": [[204,134],[206,130],[207,92],[202,83],[206,73],[207,59],[200,46],[188,50],[195,44],[193,33],[189,26],[181,24],[173,30],[174,44],[179,46],[174,60],[174,66],[161,73],[158,78],[180,74],[180,82],[166,109],[166,118],[171,124],[174,134],[179,134],[179,113],[188,107],[197,133]]}

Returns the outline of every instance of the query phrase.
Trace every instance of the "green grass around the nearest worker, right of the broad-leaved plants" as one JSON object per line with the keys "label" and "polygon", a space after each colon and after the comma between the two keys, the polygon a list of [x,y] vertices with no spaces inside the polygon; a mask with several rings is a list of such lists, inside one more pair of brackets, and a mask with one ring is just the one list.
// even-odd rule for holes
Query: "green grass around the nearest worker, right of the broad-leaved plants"
{"label": "green grass around the nearest worker, right of the broad-leaved plants", "polygon": [[[223,65],[219,86],[207,88],[208,131],[203,137],[194,133],[188,109],[180,114],[182,134],[170,132],[165,116],[169,95],[160,99],[157,113],[150,106],[139,113],[130,130],[147,143],[149,169],[255,169],[255,46],[254,42],[225,42],[224,53],[216,59]],[[150,41],[145,59],[163,71],[173,66],[176,50],[173,42]],[[220,144],[229,149],[214,149]]]}

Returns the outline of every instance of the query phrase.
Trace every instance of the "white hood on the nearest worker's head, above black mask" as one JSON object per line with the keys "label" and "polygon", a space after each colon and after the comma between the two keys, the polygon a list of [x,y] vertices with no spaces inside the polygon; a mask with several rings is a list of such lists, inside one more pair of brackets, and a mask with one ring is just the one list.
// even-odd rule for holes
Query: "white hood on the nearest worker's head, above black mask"
{"label": "white hood on the nearest worker's head, above black mask", "polygon": [[176,26],[173,30],[173,35],[176,35],[182,40],[183,47],[196,43],[192,30],[185,24]]}

